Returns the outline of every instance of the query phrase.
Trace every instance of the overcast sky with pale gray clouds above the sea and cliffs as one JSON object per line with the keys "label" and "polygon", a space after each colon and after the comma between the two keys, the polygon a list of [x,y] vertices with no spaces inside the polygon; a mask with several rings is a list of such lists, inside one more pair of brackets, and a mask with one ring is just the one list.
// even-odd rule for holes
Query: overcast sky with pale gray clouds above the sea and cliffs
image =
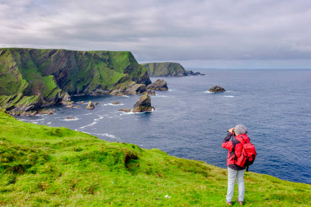
{"label": "overcast sky with pale gray clouds above the sea and cliffs", "polygon": [[0,0],[0,47],[131,51],[196,68],[311,68],[311,1]]}

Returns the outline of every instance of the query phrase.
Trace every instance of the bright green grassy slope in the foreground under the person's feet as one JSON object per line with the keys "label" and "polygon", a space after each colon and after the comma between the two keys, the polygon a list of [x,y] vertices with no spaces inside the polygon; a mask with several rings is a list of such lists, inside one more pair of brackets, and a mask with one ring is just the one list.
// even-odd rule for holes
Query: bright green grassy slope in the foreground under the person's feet
{"label": "bright green grassy slope in the foreground under the person's feet", "polygon": [[[0,131],[1,206],[225,206],[226,169],[1,111]],[[308,184],[244,180],[245,206],[310,206]]]}

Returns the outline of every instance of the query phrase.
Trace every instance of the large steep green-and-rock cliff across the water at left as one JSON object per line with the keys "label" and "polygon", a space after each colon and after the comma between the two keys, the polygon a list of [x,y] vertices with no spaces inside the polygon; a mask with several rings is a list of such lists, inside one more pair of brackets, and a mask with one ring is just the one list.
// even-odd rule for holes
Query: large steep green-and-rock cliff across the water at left
{"label": "large steep green-and-rock cliff across the water at left", "polygon": [[0,107],[19,114],[73,94],[143,92],[151,81],[131,52],[0,48]]}

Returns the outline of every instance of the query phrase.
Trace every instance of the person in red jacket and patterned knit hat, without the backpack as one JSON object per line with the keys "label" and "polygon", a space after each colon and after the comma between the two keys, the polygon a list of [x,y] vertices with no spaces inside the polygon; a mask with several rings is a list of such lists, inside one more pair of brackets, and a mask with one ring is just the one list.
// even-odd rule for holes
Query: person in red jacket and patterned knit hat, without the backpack
{"label": "person in red jacket and patterned knit hat, without the backpack", "polygon": [[[236,138],[238,139],[243,139],[247,142],[250,142],[250,139],[246,135],[247,133],[247,128],[242,125],[238,124],[234,128],[231,128],[228,130],[228,134],[225,137],[225,140],[222,144],[223,148],[226,148],[229,150],[228,152],[228,158],[227,158],[227,166],[228,166],[228,190],[227,190],[227,196],[226,196],[226,203],[229,205],[232,205],[232,198],[233,198],[233,191],[234,191],[234,183],[235,180],[238,185],[238,203],[240,205],[244,205],[244,170],[246,167],[241,167],[239,165],[236,165],[234,162],[234,157],[235,155],[239,157],[242,152],[242,144],[237,140],[234,139],[230,141],[233,133],[235,133]],[[234,151],[232,149],[234,148]],[[235,155],[234,155],[235,154]]]}

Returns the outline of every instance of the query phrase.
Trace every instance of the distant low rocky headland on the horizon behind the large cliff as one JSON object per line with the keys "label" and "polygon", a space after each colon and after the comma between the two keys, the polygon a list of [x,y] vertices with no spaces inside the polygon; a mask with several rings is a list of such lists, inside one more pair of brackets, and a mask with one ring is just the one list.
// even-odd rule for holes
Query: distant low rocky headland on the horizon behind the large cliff
{"label": "distant low rocky headland on the horizon behind the large cliff", "polygon": [[199,72],[184,70],[183,66],[177,62],[150,62],[142,63],[147,68],[149,76],[152,77],[182,77],[204,75]]}

